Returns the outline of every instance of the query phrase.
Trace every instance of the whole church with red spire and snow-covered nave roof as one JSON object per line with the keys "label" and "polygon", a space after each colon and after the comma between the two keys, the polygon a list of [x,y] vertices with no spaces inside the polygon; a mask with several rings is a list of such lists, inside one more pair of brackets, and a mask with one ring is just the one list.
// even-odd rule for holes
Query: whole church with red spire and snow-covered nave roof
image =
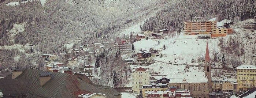
{"label": "whole church with red spire and snow-covered nave roof", "polygon": [[189,90],[192,98],[209,98],[209,93],[212,92],[212,80],[208,41],[206,45],[204,72],[177,73],[170,78],[169,86]]}

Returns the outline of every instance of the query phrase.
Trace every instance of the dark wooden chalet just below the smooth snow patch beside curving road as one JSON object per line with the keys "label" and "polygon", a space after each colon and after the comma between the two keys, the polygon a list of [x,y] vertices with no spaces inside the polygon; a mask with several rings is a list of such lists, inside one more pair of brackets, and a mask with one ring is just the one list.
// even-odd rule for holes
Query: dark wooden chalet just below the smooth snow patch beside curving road
{"label": "dark wooden chalet just below the smooth snow patch beside curving road", "polygon": [[142,50],[137,52],[137,61],[142,63],[151,63],[151,52],[148,52],[148,50]]}

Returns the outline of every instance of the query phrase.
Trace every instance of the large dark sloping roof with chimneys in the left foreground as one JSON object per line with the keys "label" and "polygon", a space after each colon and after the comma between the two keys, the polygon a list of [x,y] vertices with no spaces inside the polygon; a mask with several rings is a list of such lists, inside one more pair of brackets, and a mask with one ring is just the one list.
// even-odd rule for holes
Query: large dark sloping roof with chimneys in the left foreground
{"label": "large dark sloping roof with chimneys in the left foreground", "polygon": [[85,76],[15,69],[0,79],[0,90],[3,93],[1,98],[77,98],[75,94],[79,90],[100,93],[107,98],[120,98],[120,93],[115,94],[117,91],[114,89],[103,90],[91,83]]}

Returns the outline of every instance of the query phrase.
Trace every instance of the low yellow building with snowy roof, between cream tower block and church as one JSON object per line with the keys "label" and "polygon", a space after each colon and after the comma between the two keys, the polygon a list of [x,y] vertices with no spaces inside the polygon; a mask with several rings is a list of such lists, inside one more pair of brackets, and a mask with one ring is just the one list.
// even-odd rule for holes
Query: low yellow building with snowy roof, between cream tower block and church
{"label": "low yellow building with snowy roof, between cream tower block and church", "polygon": [[168,85],[167,84],[152,84],[152,85],[143,85],[142,88],[142,95],[143,98],[146,98],[145,96],[145,92],[146,91],[165,91],[168,89]]}

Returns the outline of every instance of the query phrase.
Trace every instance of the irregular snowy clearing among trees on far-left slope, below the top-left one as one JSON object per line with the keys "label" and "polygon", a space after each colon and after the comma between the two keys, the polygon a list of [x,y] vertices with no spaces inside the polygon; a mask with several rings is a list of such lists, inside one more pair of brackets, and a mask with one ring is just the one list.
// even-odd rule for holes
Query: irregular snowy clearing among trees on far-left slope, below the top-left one
{"label": "irregular snowy clearing among trees on far-left slope, below the top-left one", "polygon": [[12,42],[14,42],[14,36],[16,34],[24,32],[25,26],[25,22],[13,24],[13,28],[7,33],[7,35],[11,38]]}

